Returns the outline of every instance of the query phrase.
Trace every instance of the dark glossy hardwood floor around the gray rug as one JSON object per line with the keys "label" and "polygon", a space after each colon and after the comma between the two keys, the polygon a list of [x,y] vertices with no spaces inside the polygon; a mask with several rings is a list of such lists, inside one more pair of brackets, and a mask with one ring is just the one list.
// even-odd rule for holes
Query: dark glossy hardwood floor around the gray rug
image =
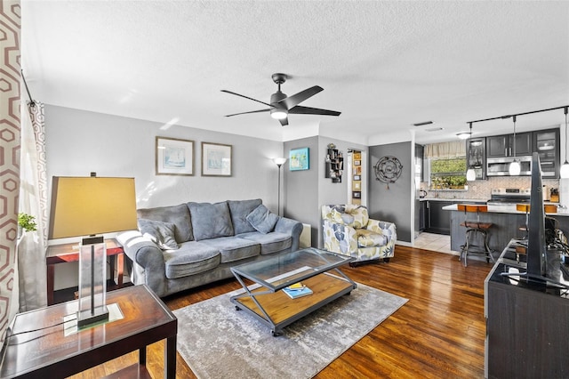
{"label": "dark glossy hardwood floor around the gray rug", "polygon": [[[484,280],[492,265],[454,255],[397,246],[389,263],[342,270],[367,286],[409,299],[316,377],[483,378]],[[172,310],[240,288],[228,279],[164,298]],[[301,320],[299,322],[302,322]],[[190,326],[178,326],[190,327]],[[148,348],[148,370],[162,377],[164,344]],[[131,353],[76,378],[95,378],[132,365]],[[177,377],[195,378],[178,354]]]}

